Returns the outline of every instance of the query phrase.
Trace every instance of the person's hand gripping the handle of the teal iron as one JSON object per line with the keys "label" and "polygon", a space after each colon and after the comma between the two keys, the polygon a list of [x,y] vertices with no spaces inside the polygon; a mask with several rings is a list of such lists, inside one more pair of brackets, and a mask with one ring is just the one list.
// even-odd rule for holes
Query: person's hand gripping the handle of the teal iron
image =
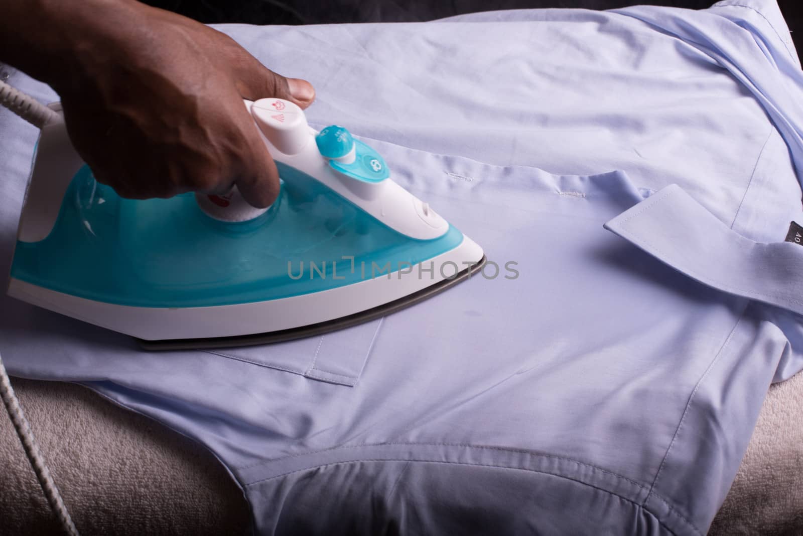
{"label": "person's hand gripping the handle of the teal iron", "polygon": [[71,57],[51,81],[97,180],[126,198],[225,194],[236,185],[255,207],[273,203],[279,174],[243,98],[306,108],[312,85],[269,71],[188,18],[127,0],[97,3],[64,14]]}

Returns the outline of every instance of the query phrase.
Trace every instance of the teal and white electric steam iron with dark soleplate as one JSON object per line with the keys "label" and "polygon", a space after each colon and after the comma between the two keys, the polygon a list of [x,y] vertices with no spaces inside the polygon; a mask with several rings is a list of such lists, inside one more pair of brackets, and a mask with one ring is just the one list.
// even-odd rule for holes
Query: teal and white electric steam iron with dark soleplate
{"label": "teal and white electric steam iron with dark soleplate", "polygon": [[287,341],[441,292],[483,250],[398,186],[381,155],[287,100],[246,101],[279,198],[120,198],[72,148],[59,105],[42,126],[8,293],[127,333],[149,350]]}

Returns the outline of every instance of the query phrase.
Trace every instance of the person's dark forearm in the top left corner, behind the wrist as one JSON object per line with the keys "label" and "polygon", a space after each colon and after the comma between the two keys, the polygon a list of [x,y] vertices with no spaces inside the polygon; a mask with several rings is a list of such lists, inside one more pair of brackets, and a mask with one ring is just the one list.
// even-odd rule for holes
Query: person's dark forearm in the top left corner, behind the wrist
{"label": "person's dark forearm in the top left corner, behind the wrist", "polygon": [[133,0],[2,0],[0,61],[57,87]]}

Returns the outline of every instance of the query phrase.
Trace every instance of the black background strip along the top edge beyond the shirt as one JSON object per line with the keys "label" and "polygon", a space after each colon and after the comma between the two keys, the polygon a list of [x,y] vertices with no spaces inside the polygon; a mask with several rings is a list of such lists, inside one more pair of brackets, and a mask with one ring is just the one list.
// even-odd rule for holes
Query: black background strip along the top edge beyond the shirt
{"label": "black background strip along the top edge beyond the shirt", "polygon": [[[538,7],[607,10],[635,4],[704,9],[715,0],[145,0],[202,23],[322,24],[418,22],[474,11]],[[803,51],[803,0],[778,0],[798,55]]]}

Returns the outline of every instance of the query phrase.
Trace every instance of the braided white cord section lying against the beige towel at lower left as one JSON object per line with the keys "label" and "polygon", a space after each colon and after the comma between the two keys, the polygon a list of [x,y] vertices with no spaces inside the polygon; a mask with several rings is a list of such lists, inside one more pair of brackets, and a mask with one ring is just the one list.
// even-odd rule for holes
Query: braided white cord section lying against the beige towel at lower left
{"label": "braided white cord section lying against the beige towel at lower left", "polygon": [[[2,87],[0,87],[0,91],[2,91]],[[51,510],[59,518],[64,532],[70,534],[70,536],[78,536],[78,529],[75,528],[75,524],[70,518],[70,513],[67,512],[67,507],[64,505],[59,489],[55,487],[55,482],[51,477],[47,464],[45,464],[42,453],[39,452],[39,444],[36,443],[31,424],[25,418],[22,407],[19,407],[19,400],[17,395],[14,395],[14,389],[11,387],[8,374],[6,374],[6,367],[2,364],[2,358],[0,358],[0,397],[2,397],[3,403],[6,404],[8,416],[11,419],[11,423],[14,423],[14,430],[17,431],[22,448],[25,449],[28,461],[31,462],[31,467],[34,468],[36,478],[39,480],[39,485],[42,486],[42,491],[47,497]]]}

